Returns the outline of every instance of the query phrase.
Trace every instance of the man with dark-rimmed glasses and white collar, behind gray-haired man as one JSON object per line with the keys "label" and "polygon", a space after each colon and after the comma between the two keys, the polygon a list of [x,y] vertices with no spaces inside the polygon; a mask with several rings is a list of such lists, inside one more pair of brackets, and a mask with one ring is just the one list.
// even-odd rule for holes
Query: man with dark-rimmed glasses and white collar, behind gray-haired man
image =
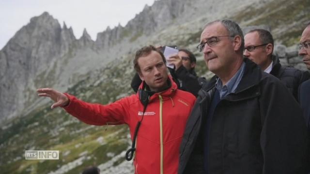
{"label": "man with dark-rimmed glasses and white collar, behind gray-haired man", "polygon": [[279,78],[298,101],[298,87],[309,77],[302,76],[303,72],[298,69],[281,66],[279,58],[272,54],[274,40],[271,33],[265,29],[253,29],[245,35],[244,41],[244,56],[255,62],[264,72]]}

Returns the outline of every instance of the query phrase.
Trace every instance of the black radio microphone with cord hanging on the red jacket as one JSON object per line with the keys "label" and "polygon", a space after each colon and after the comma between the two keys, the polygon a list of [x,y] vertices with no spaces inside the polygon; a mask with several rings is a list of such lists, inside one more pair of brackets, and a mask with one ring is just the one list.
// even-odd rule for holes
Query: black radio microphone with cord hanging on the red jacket
{"label": "black radio microphone with cord hanging on the red jacket", "polygon": [[143,90],[143,89],[139,89],[138,92],[139,92],[139,100],[140,100],[140,102],[141,102],[142,105],[143,105],[143,113],[142,113],[142,118],[141,118],[141,120],[138,121],[138,124],[137,124],[137,126],[136,126],[135,134],[134,134],[134,139],[132,140],[131,148],[128,149],[127,152],[126,152],[126,154],[125,154],[125,159],[126,159],[127,161],[132,160],[132,158],[133,158],[133,156],[134,156],[134,152],[136,151],[136,147],[135,147],[135,146],[136,146],[136,138],[137,138],[137,135],[138,135],[138,131],[139,131],[141,122],[142,122],[143,117],[144,117],[144,113],[145,113],[147,104],[149,103],[149,99],[150,99],[150,94],[149,94],[148,91]]}

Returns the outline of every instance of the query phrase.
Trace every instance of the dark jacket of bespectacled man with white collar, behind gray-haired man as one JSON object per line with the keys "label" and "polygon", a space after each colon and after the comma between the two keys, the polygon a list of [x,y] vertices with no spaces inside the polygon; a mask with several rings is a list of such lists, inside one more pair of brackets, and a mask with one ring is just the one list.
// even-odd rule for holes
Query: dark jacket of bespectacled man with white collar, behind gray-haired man
{"label": "dark jacket of bespectacled man with white collar, behind gray-haired man", "polygon": [[[309,75],[303,76],[303,72],[292,68],[281,66],[279,58],[272,57],[273,65],[270,74],[276,76],[293,94],[296,101],[298,101],[298,87],[305,80],[309,79]],[[308,74],[308,73],[307,73]]]}

